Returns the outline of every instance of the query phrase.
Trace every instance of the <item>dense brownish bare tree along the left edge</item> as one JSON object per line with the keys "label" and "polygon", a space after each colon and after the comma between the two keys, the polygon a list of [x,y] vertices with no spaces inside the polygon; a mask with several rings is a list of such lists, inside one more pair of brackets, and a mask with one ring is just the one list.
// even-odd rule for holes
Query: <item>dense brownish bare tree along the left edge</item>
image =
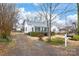
{"label": "dense brownish bare tree along the left edge", "polygon": [[6,38],[10,36],[15,20],[15,4],[0,4],[0,36]]}

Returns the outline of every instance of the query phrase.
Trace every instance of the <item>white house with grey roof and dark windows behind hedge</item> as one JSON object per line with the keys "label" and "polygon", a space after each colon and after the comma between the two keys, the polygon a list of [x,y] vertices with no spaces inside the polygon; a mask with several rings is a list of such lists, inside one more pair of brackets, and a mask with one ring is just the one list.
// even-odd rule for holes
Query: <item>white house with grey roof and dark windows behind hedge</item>
{"label": "white house with grey roof and dark windows behind hedge", "polygon": [[24,25],[24,33],[28,33],[28,32],[47,32],[46,23],[26,21]]}

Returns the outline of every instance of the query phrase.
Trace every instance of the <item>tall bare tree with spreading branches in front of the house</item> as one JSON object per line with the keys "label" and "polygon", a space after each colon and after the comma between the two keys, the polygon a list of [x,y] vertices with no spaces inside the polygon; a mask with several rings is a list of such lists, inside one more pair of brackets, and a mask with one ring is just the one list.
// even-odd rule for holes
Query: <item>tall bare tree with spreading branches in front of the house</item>
{"label": "tall bare tree with spreading branches in front of the house", "polygon": [[[42,3],[40,5],[40,10],[41,12],[38,12],[39,15],[43,16],[45,20],[47,21],[47,27],[48,27],[48,37],[49,40],[51,39],[51,22],[57,17],[57,16],[62,16],[68,12],[72,12],[74,9],[68,9],[69,4],[66,4],[66,6],[63,6],[59,3]],[[60,6],[61,5],[61,6]],[[61,10],[61,11],[60,11]],[[56,15],[54,15],[57,11],[58,12]]]}

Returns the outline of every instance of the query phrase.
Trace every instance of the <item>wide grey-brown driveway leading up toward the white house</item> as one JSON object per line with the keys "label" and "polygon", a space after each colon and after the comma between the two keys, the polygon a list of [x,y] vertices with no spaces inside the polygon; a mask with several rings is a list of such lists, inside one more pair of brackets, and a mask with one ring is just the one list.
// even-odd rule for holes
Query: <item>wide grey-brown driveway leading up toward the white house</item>
{"label": "wide grey-brown driveway leading up toward the white house", "polygon": [[67,51],[61,47],[51,46],[41,41],[34,41],[24,34],[14,35],[15,48],[9,48],[8,56],[57,56],[76,55],[75,50]]}

